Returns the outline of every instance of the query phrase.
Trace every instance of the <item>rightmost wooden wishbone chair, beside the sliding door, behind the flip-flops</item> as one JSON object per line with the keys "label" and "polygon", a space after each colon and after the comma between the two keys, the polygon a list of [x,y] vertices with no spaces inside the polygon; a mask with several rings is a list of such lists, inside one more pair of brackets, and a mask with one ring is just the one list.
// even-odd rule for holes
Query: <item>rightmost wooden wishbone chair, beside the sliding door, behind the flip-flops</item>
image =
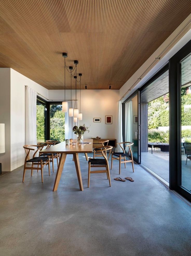
{"label": "rightmost wooden wishbone chair, beside the sliding door, behind the flip-flops", "polygon": [[[129,143],[129,145],[125,145],[127,143]],[[112,152],[112,155],[111,155],[111,169],[112,169],[112,166],[113,166],[113,159],[116,159],[116,160],[119,160],[119,174],[121,173],[121,163],[124,163],[125,168],[126,168],[126,163],[128,163],[128,162],[132,163],[133,172],[134,172],[133,154],[132,154],[132,150],[131,150],[131,147],[133,146],[134,143],[133,142],[120,142],[120,143],[117,143],[117,144],[120,145],[123,152]],[[125,147],[129,147],[127,153],[125,153],[124,145],[125,145]],[[117,156],[117,157],[114,157],[114,156]],[[126,157],[131,158],[131,160],[126,160]],[[121,160],[124,160],[124,161],[121,161]]]}

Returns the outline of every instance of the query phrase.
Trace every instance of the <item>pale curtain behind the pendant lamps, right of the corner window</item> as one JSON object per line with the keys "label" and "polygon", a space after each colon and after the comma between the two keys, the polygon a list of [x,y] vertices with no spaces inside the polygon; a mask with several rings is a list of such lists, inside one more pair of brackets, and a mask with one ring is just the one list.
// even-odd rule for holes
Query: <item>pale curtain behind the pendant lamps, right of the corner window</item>
{"label": "pale curtain behind the pendant lamps, right of the corner window", "polygon": [[78,122],[74,123],[74,118],[69,117],[69,108],[75,108],[75,104],[78,107],[78,101],[76,103],[75,100],[67,100],[68,102],[68,112],[65,113],[65,139],[76,139],[76,134],[73,132],[73,127],[75,125],[78,126]]}

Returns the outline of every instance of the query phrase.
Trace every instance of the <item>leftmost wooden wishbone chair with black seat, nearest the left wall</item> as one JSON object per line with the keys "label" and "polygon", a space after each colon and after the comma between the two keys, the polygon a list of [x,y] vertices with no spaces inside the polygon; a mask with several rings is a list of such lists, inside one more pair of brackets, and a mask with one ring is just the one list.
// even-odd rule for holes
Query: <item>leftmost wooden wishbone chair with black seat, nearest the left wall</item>
{"label": "leftmost wooden wishbone chair with black seat, nearest the left wall", "polygon": [[[32,147],[32,148],[31,148]],[[34,147],[37,147],[37,150],[33,154],[32,158],[30,159],[29,154],[31,150],[35,150]],[[42,150],[42,146],[40,145],[24,145],[23,148],[25,149],[26,152],[26,157],[25,157],[25,163],[24,163],[24,170],[23,170],[23,182],[25,179],[25,172],[26,170],[31,170],[31,176],[32,176],[32,170],[41,170],[41,179],[43,183],[43,167],[48,164],[49,167],[49,176],[50,176],[50,160],[48,156],[41,156],[41,157],[35,157],[36,153],[38,150]],[[32,163],[30,167],[26,166],[27,163]],[[34,167],[34,165],[38,165],[38,167]],[[39,167],[40,165],[40,167]]]}

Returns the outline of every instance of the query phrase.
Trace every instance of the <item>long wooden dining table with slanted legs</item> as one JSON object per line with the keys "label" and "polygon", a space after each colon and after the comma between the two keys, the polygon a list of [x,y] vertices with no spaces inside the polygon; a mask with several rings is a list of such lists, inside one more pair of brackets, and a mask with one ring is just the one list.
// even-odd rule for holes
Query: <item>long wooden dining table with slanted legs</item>
{"label": "long wooden dining table with slanted legs", "polygon": [[62,170],[64,167],[64,163],[66,160],[66,156],[68,154],[73,155],[74,163],[76,166],[76,173],[78,177],[78,183],[80,190],[83,191],[83,183],[82,183],[82,178],[81,178],[81,170],[80,170],[80,162],[79,162],[79,156],[78,153],[92,153],[92,145],[93,145],[93,139],[85,139],[85,142],[90,142],[90,144],[85,144],[85,145],[80,145],[76,139],[73,140],[73,142],[76,142],[76,145],[66,145],[65,142],[60,142],[56,145],[51,146],[50,148],[43,149],[42,153],[52,153],[52,154],[60,154],[60,160],[58,164],[58,169],[56,173],[56,178],[54,181],[54,187],[53,191],[56,191],[58,189],[58,185],[60,182],[60,178],[62,175]]}

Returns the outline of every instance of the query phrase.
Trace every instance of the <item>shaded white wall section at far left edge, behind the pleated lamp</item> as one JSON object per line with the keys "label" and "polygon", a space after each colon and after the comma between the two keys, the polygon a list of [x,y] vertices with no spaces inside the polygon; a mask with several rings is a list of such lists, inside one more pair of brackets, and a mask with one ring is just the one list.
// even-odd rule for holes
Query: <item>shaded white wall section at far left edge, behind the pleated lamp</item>
{"label": "shaded white wall section at far left edge, behind the pleated lamp", "polygon": [[5,124],[5,153],[0,154],[2,172],[10,171],[10,68],[0,68],[0,123]]}

